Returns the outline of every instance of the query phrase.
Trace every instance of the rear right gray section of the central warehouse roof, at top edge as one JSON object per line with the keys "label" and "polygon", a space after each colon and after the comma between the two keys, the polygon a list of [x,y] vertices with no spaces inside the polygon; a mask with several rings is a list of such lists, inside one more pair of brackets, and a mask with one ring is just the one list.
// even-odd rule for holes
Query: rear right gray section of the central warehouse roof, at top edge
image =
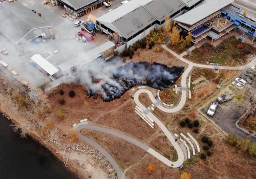
{"label": "rear right gray section of the central warehouse roof, at top edge", "polygon": [[[197,0],[200,1],[200,0]],[[182,9],[185,5],[179,0],[153,0],[144,5],[159,21]]]}

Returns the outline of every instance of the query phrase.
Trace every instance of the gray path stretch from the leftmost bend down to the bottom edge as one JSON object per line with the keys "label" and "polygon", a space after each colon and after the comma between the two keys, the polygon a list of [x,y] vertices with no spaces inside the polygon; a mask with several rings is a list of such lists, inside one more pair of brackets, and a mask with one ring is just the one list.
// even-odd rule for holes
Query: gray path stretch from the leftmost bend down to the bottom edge
{"label": "gray path stretch from the leftmost bend down to the bottom edge", "polygon": [[[80,131],[82,128],[86,128],[86,125],[84,126],[84,125],[78,124],[77,126],[74,127],[74,129],[76,129],[78,131]],[[98,143],[94,142],[92,139],[81,135],[80,132],[79,132],[78,138],[87,142],[88,144],[92,145],[102,155],[104,155],[106,160],[108,160],[110,162],[110,164],[113,166],[113,168],[115,169],[118,178],[126,179],[126,176],[124,175],[123,171],[120,169],[120,167],[118,166],[118,164],[116,163],[116,161],[113,159],[113,157],[111,156],[111,154],[108,151],[106,151],[104,148],[102,148]]]}

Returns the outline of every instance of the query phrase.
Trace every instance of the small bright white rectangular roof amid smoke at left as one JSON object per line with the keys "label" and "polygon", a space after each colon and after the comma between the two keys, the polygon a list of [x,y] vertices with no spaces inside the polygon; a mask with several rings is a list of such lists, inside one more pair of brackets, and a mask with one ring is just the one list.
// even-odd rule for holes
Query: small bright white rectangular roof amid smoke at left
{"label": "small bright white rectangular roof amid smoke at left", "polygon": [[44,69],[49,75],[53,75],[59,71],[55,68],[55,66],[53,66],[49,61],[47,61],[39,54],[33,55],[31,57],[31,60],[33,60],[38,66],[40,66],[40,68]]}

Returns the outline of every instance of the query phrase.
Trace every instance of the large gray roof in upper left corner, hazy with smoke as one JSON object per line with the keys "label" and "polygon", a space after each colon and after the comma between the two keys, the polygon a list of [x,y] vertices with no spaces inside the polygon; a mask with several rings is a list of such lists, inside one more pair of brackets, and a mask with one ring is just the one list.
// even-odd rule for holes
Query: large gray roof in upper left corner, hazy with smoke
{"label": "large gray roof in upper left corner, hazy with smoke", "polygon": [[2,32],[13,43],[25,38],[33,39],[33,29],[44,32],[46,27],[51,27],[47,21],[19,2],[0,4],[0,32]]}

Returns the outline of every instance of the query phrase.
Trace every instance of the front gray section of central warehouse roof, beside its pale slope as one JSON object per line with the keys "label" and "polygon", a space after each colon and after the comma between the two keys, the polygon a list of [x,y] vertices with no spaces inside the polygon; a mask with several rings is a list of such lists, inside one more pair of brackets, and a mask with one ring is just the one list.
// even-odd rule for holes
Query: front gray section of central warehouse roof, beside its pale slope
{"label": "front gray section of central warehouse roof, beside its pale slope", "polygon": [[140,6],[113,21],[112,25],[115,26],[118,31],[124,35],[124,37],[129,38],[138,31],[146,28],[155,20],[156,18],[153,15],[148,13],[145,8]]}

